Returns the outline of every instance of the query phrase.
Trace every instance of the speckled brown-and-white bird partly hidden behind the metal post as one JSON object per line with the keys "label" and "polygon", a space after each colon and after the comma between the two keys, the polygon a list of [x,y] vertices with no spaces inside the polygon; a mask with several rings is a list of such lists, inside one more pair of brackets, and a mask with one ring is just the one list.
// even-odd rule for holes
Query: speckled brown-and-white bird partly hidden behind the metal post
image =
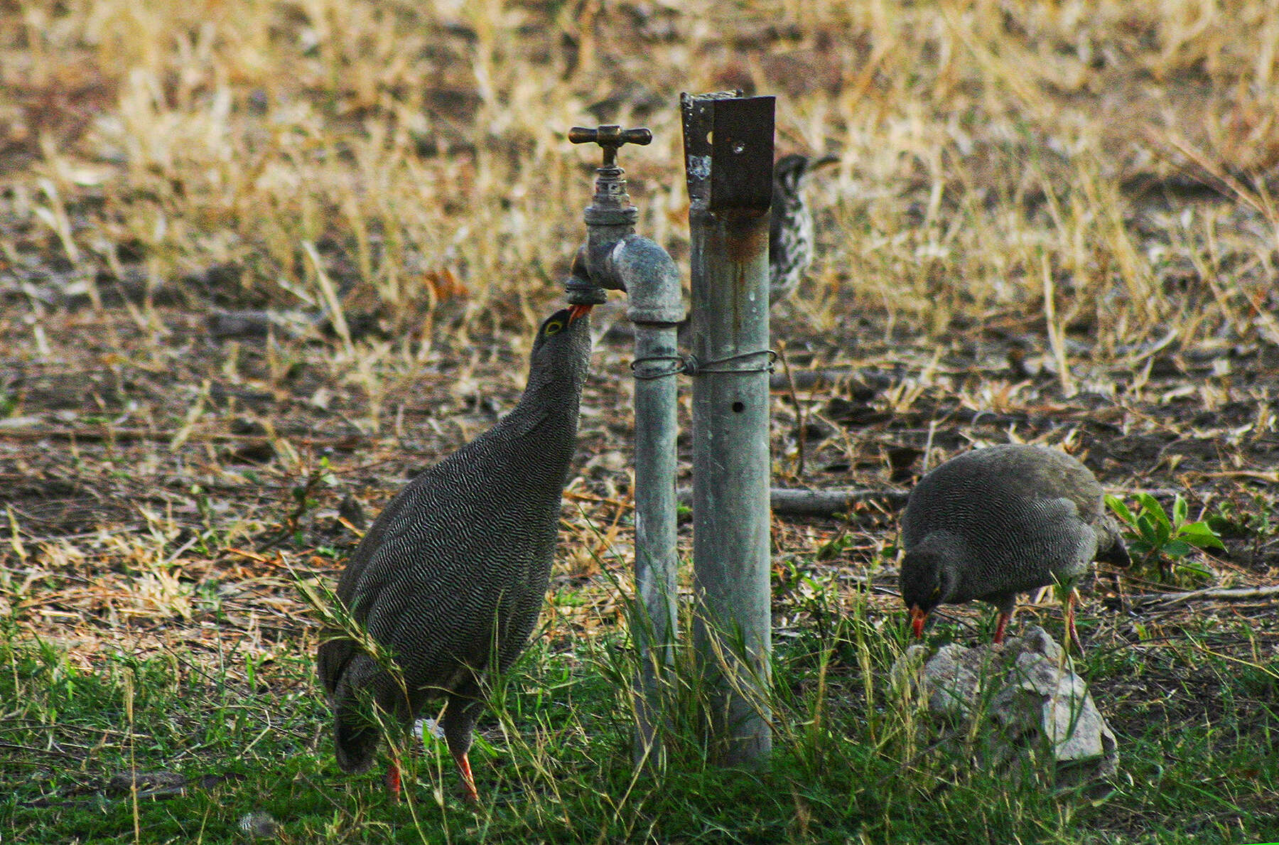
{"label": "speckled brown-and-white bird partly hidden behind the metal post", "polygon": [[773,210],[769,220],[769,304],[799,285],[813,256],[812,212],[803,198],[808,175],[838,162],[835,156],[810,159],[792,153],[773,166]]}

